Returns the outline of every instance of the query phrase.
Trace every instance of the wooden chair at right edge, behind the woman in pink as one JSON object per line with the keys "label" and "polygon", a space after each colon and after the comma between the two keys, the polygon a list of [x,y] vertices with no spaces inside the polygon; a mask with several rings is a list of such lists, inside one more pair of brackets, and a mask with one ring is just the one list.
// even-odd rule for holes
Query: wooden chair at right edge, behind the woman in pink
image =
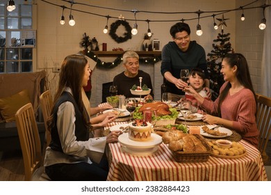
{"label": "wooden chair at right edge, behind the woman in pink", "polygon": [[271,98],[264,95],[256,94],[257,111],[256,123],[260,131],[258,150],[263,158],[263,164],[268,162],[268,155],[265,153],[266,146],[271,134]]}

